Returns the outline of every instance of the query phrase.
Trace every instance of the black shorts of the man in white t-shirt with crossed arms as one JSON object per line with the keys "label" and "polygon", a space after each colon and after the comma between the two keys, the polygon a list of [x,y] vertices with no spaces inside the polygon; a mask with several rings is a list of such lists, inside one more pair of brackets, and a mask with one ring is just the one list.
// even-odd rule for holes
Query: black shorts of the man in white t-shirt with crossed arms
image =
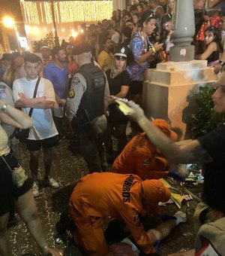
{"label": "black shorts of the man in white t-shirt with crossed arms", "polygon": [[59,145],[58,136],[53,136],[47,139],[27,139],[26,140],[26,148],[28,151],[39,151],[40,147],[43,148],[52,148]]}

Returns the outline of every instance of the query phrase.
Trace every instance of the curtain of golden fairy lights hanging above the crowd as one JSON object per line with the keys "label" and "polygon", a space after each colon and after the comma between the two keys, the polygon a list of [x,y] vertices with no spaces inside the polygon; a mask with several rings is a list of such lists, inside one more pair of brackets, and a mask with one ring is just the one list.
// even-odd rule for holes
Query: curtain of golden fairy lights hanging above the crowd
{"label": "curtain of golden fairy lights hanging above the crowd", "polygon": [[[40,25],[52,23],[50,2],[20,1],[25,22]],[[113,0],[108,1],[55,1],[55,22],[98,22],[110,19],[113,12]]]}

